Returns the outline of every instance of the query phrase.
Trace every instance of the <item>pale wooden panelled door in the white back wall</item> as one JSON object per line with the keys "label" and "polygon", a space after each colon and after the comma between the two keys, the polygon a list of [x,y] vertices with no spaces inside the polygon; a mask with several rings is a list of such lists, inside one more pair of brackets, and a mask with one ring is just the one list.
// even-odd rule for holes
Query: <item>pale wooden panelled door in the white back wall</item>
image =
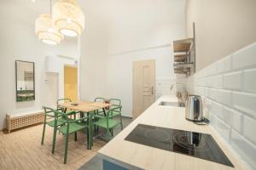
{"label": "pale wooden panelled door in the white back wall", "polygon": [[154,103],[154,65],[154,59],[133,62],[132,117],[134,119]]}

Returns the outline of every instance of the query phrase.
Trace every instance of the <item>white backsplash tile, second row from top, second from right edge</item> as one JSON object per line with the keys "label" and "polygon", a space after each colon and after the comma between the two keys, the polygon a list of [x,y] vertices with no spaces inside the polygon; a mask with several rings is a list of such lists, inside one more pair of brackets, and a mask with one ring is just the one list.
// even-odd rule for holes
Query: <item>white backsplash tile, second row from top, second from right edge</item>
{"label": "white backsplash tile, second row from top, second from right edge", "polygon": [[224,75],[224,88],[241,89],[241,76],[242,72],[237,71]]}

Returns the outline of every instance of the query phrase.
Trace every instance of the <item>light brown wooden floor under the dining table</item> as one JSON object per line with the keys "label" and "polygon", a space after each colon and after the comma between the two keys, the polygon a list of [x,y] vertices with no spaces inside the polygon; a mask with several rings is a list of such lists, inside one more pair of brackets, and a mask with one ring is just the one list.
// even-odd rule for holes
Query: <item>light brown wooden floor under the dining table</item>
{"label": "light brown wooden floor under the dining table", "polygon": [[46,128],[44,145],[41,145],[43,125],[28,127],[13,133],[0,132],[0,169],[1,170],[58,170],[78,169],[96,155],[105,142],[94,140],[92,150],[86,148],[86,135],[78,133],[78,141],[69,138],[67,164],[63,164],[64,138],[57,135],[55,154],[52,155],[51,142],[53,129]]}

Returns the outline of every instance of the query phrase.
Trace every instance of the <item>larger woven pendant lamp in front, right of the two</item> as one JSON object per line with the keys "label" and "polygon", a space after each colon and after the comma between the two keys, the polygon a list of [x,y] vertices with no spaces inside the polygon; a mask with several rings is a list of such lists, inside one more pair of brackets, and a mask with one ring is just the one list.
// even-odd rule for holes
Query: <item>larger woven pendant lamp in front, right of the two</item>
{"label": "larger woven pendant lamp in front, right of the two", "polygon": [[84,13],[77,0],[58,0],[53,7],[55,27],[68,37],[80,36],[84,30]]}

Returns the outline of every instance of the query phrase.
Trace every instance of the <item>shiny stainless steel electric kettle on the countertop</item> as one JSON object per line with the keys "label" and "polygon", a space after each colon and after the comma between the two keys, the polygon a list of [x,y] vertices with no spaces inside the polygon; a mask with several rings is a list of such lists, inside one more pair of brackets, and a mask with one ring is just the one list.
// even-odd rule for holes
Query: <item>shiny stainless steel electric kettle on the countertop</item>
{"label": "shiny stainless steel electric kettle on the countertop", "polygon": [[186,119],[192,122],[202,122],[203,117],[202,100],[199,95],[189,95],[186,103]]}

